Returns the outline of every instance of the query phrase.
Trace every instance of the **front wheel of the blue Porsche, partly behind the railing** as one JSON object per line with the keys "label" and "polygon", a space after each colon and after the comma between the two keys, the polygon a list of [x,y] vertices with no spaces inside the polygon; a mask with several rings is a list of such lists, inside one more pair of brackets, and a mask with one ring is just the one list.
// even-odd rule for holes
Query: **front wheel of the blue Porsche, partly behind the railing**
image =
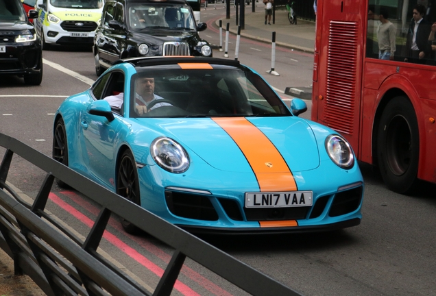
{"label": "front wheel of the blue Porsche, partly behind the railing", "polygon": [[[139,191],[138,171],[130,150],[125,150],[121,155],[117,168],[117,194],[134,204],[141,206]],[[121,225],[128,234],[138,234],[139,228],[126,219],[121,219]]]}

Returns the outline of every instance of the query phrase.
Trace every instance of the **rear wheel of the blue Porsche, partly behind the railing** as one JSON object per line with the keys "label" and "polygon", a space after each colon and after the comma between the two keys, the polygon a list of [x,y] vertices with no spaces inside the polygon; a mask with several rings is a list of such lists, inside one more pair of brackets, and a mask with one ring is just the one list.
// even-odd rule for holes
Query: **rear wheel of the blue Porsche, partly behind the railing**
{"label": "rear wheel of the blue Porsche, partly behind the railing", "polygon": [[[62,119],[55,123],[53,132],[52,158],[68,167],[68,144],[66,140],[65,124]],[[69,188],[68,184],[56,178],[56,183],[60,188]]]}

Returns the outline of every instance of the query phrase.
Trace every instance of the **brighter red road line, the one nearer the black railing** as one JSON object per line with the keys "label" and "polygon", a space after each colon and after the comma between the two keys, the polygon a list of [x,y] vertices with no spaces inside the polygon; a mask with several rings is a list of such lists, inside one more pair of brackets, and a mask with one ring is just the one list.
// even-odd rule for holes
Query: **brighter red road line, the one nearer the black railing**
{"label": "brighter red road line, the one nearer the black railing", "polygon": [[[84,214],[82,214],[81,212],[79,212],[78,210],[76,210],[75,208],[70,206],[69,204],[67,204],[65,201],[60,199],[60,197],[58,197],[54,193],[50,193],[49,198],[55,204],[60,206],[60,208],[63,208],[64,210],[66,210],[66,212],[69,212],[69,214],[73,215],[76,219],[82,221],[82,223],[84,223],[88,227],[90,227],[90,228],[93,227],[94,221],[92,221],[91,219],[86,217]],[[123,251],[125,254],[127,254],[128,256],[133,258],[134,260],[136,260],[136,262],[142,264],[144,267],[149,269],[149,271],[152,271],[154,274],[158,275],[158,277],[162,277],[162,275],[164,273],[163,269],[158,267],[152,261],[145,258],[143,255],[139,254],[138,251],[136,251],[132,247],[129,247],[128,245],[126,245],[122,240],[117,238],[117,236],[114,236],[114,234],[105,230],[103,237],[106,238],[106,240],[108,240],[109,243],[112,243],[112,245],[121,249],[121,251]],[[195,296],[198,295],[198,296],[200,296],[198,293],[196,293],[191,288],[189,288],[189,286],[186,286],[186,284],[183,284],[179,280],[177,282],[175,282],[174,287],[176,290],[178,290],[183,295],[195,295]]]}

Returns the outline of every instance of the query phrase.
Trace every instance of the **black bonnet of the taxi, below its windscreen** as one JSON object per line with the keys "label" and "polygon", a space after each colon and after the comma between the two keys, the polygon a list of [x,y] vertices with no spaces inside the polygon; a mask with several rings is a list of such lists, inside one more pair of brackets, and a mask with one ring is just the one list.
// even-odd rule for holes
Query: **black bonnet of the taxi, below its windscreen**
{"label": "black bonnet of the taxi, below its windscreen", "polygon": [[[167,41],[185,41],[190,42],[191,39],[197,36],[195,31],[178,31],[167,29],[153,29],[143,32],[133,32],[132,39],[145,41],[148,44],[160,45]],[[199,38],[197,38],[199,39]]]}

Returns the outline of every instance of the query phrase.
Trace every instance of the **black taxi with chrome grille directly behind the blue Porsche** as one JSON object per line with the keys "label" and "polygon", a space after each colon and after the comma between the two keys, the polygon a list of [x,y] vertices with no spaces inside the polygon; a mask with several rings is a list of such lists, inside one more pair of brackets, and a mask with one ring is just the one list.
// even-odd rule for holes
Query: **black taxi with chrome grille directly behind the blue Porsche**
{"label": "black taxi with chrome grille directly behind the blue Porsche", "polygon": [[140,56],[212,56],[184,0],[108,0],[94,39],[95,73],[121,58]]}

